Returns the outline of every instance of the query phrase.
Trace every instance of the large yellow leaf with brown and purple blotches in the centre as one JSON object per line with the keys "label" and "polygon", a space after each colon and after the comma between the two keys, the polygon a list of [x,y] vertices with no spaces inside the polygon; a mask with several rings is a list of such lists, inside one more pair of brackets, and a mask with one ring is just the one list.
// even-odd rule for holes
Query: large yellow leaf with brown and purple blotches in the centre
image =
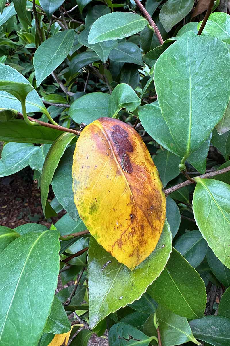
{"label": "large yellow leaf with brown and purple blotches in the centre", "polygon": [[84,224],[132,270],[156,247],[166,212],[163,185],[142,138],[120,120],[93,121],[77,141],[72,175]]}

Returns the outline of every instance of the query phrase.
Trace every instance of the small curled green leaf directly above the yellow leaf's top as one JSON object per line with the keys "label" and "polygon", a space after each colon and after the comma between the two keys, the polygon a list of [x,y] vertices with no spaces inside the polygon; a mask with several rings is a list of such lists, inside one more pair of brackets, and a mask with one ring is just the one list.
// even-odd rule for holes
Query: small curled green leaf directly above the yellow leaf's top
{"label": "small curled green leaf directly above the yellow leaf's top", "polygon": [[109,116],[117,116],[121,109],[126,109],[128,112],[134,111],[141,100],[136,92],[128,84],[118,84],[113,89],[109,100]]}

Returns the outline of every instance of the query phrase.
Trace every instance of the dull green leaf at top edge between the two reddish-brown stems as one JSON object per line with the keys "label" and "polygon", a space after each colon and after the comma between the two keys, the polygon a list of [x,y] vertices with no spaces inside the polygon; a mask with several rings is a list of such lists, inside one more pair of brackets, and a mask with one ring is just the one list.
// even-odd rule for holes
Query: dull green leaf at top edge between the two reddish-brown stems
{"label": "dull green leaf at top edge between the two reddish-brown stems", "polygon": [[160,21],[167,33],[181,19],[188,15],[194,4],[194,0],[168,0],[160,10]]}

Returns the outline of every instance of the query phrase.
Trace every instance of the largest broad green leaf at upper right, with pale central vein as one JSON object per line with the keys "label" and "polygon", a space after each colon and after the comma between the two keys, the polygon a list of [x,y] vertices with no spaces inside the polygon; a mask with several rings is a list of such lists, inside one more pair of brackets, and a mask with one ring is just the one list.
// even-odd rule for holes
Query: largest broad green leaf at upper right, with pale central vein
{"label": "largest broad green leaf at upper right, with pale central vein", "polygon": [[[223,117],[230,94],[221,71],[229,64],[230,53],[224,43],[192,31],[181,36],[158,58],[154,66],[155,88],[179,156],[187,159]],[[202,85],[199,92],[198,83]]]}

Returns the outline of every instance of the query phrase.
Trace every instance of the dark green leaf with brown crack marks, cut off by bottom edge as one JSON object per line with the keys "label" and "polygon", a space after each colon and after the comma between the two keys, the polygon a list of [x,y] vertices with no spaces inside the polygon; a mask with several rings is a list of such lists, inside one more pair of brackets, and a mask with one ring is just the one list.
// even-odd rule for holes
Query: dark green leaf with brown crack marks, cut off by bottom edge
{"label": "dark green leaf with brown crack marks, cut off by bottom edge", "polygon": [[[152,339],[156,339],[154,336],[147,336],[143,334],[137,328],[119,322],[113,325],[109,330],[109,345],[113,346],[125,346],[125,345],[142,345],[148,346]],[[132,340],[128,342],[128,340]]]}

